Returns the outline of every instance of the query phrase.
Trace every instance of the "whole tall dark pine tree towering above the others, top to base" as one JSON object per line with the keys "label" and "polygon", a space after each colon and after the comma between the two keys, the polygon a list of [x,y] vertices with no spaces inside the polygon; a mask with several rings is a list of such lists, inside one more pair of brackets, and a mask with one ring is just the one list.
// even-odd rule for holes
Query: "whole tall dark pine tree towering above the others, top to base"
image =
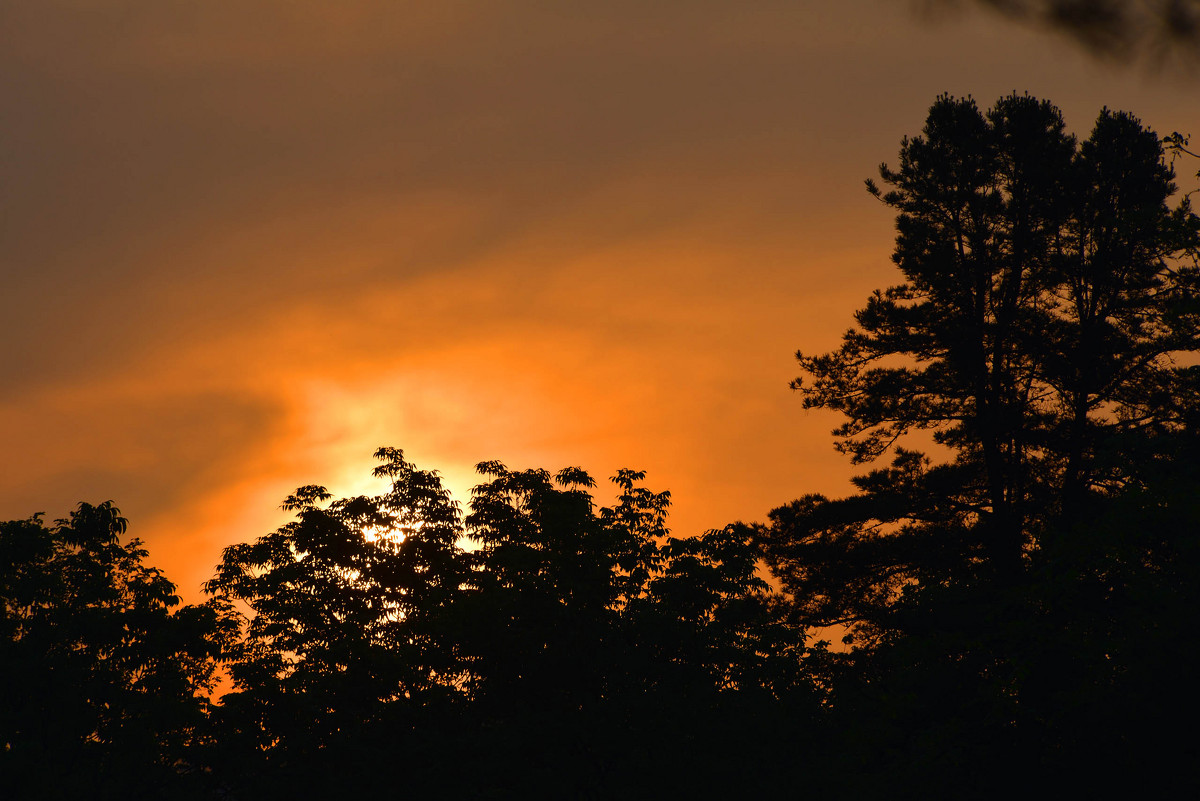
{"label": "whole tall dark pine tree towering above the others, top to base", "polygon": [[[881,176],[887,191],[868,188],[898,211],[904,282],[836,351],[799,354],[793,386],[845,415],[856,463],[890,464],[761,530],[798,614],[847,627],[841,706],[874,733],[847,748],[892,748],[893,778],[926,791],[985,794],[1002,765],[1145,755],[1111,725],[1068,724],[1066,695],[1145,725],[1121,676],[1180,662],[1162,642],[1115,658],[1118,630],[1186,600],[1159,618],[1183,637],[1196,612],[1177,586],[1200,576],[1196,487],[1165,477],[1195,468],[1200,371],[1178,355],[1200,350],[1200,221],[1169,205],[1163,143],[1136,119],[1105,109],[1080,143],[1028,96],[986,114],[940,97]],[[932,456],[900,446],[922,430]]]}

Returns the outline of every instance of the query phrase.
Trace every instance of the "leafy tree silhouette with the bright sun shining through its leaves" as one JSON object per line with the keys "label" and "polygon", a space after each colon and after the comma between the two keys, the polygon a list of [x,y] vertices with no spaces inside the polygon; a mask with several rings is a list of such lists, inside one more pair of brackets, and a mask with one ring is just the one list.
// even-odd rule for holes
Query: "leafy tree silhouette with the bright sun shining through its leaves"
{"label": "leafy tree silhouette with the bright sun shining through its leaves", "polygon": [[205,585],[248,613],[218,759],[256,795],[334,791],[354,741],[385,729],[402,742],[422,710],[464,691],[439,630],[469,580],[458,508],[436,472],[395,448],[376,456],[386,493],[328,502],[323,487],[301,487],[283,504],[298,519],[228,547]]}

